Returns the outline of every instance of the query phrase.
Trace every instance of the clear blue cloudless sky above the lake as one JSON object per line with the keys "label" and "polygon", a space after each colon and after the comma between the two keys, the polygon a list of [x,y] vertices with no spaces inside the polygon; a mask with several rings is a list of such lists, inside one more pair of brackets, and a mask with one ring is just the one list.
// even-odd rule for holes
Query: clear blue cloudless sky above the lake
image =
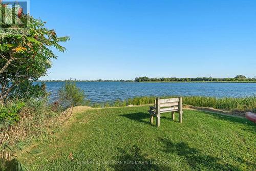
{"label": "clear blue cloudless sky above the lake", "polygon": [[42,79],[256,75],[256,1],[30,0],[70,36]]}

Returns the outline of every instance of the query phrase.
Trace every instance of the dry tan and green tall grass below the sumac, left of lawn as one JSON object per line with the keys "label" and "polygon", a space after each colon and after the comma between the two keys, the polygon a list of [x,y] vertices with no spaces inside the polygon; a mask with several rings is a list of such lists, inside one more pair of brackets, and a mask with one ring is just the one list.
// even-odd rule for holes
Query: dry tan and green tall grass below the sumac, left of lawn
{"label": "dry tan and green tall grass below the sumac, left of lawn", "polygon": [[[14,161],[10,165],[10,170],[28,170],[13,153],[29,145],[35,137],[42,135],[48,139],[49,129],[57,128],[59,125],[60,114],[52,111],[46,97],[19,100],[18,104],[21,102],[24,104],[23,108],[14,111],[17,112],[14,115],[17,119],[8,118],[0,121],[0,170],[5,167],[7,161]],[[13,106],[15,101],[8,103],[6,106]]]}

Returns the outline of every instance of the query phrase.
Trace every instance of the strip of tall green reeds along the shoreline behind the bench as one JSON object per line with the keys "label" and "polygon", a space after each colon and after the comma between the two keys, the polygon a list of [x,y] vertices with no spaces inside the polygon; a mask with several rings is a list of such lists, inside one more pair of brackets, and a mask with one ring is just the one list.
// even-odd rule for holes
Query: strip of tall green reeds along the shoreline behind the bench
{"label": "strip of tall green reeds along the shoreline behind the bench", "polygon": [[[176,96],[163,96],[159,98],[174,98]],[[99,106],[127,106],[153,104],[155,102],[155,96],[135,97],[127,100],[116,100],[115,102],[106,102],[105,104],[97,104]],[[193,105],[197,107],[209,107],[220,110],[228,111],[256,111],[256,96],[241,97],[241,98],[216,98],[216,97],[200,97],[200,96],[186,96],[183,97],[183,104]]]}

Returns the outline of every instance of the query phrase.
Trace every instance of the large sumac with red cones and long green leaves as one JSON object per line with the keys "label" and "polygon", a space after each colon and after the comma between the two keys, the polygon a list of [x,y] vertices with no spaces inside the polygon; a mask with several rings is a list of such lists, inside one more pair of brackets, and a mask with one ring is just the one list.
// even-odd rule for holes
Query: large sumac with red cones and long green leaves
{"label": "large sumac with red cones and long green leaves", "polygon": [[[58,37],[56,32],[45,27],[45,22],[32,16],[20,14],[13,15],[15,7],[2,4],[1,10],[5,12],[0,25],[5,27],[4,34],[0,34],[0,100],[5,101],[13,93],[24,98],[28,94],[37,93],[38,86],[32,84],[40,77],[45,76],[52,67],[52,59],[57,56],[52,47],[60,52],[66,48],[59,45],[66,42],[69,37]],[[6,25],[5,19],[26,23],[23,25]]]}

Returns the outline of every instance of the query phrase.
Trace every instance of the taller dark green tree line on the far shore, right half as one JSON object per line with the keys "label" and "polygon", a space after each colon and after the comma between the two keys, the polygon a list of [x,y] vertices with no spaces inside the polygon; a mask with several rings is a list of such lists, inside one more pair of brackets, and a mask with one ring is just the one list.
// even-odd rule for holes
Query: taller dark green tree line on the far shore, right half
{"label": "taller dark green tree line on the far shore, right half", "polygon": [[247,78],[244,75],[237,75],[234,78],[212,78],[212,77],[197,77],[197,78],[148,78],[136,77],[135,82],[255,82],[256,78]]}

